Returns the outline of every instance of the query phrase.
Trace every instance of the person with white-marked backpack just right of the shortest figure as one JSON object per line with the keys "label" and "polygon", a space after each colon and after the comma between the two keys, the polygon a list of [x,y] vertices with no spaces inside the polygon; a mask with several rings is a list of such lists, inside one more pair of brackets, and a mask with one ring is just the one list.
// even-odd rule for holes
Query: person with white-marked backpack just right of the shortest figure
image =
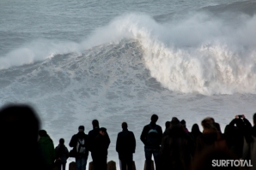
{"label": "person with white-marked backpack just right of the shortest figure", "polygon": [[70,147],[75,150],[76,169],[85,170],[88,159],[88,135],[84,133],[84,126],[78,127],[78,132],[70,140]]}

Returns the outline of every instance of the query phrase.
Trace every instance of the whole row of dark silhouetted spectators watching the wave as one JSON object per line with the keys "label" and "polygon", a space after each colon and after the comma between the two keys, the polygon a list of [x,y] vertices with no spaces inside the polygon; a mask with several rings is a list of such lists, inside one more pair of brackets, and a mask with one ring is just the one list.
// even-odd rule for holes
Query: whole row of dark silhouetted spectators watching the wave
{"label": "whole row of dark silhouetted spectators watching the wave", "polygon": [[[221,131],[220,125],[212,117],[201,121],[191,132],[186,128],[186,120],[173,117],[167,121],[164,132],[157,125],[158,116],[153,114],[148,125],[143,127],[140,139],[144,144],[146,170],[151,170],[154,157],[155,170],[203,170],[203,169],[256,169],[256,114],[253,126],[244,115],[235,115]],[[67,149],[64,138],[54,147],[46,130],[40,129],[40,120],[34,109],[28,105],[6,105],[0,109],[0,131],[2,139],[2,167],[8,169],[65,170],[69,157],[76,158],[76,169],[85,170],[88,153],[92,156],[94,170],[107,170],[107,149],[111,143],[107,128],[100,127],[98,120],[92,121],[93,129],[86,134],[84,126],[70,138]],[[133,154],[136,150],[134,133],[122,123],[116,141],[120,169],[132,169]],[[223,164],[223,161],[248,161],[249,164]],[[221,162],[221,163],[219,163]]]}

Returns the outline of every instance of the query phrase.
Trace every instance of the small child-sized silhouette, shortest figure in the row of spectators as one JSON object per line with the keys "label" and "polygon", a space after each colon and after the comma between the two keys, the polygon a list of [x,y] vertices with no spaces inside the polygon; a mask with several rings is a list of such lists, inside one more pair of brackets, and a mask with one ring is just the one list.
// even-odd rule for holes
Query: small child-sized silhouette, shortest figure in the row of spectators
{"label": "small child-sized silhouette, shortest figure in the row of spectators", "polygon": [[58,161],[58,170],[65,170],[67,159],[69,158],[69,150],[64,145],[64,138],[59,139],[59,144],[55,148],[55,156],[56,161]]}

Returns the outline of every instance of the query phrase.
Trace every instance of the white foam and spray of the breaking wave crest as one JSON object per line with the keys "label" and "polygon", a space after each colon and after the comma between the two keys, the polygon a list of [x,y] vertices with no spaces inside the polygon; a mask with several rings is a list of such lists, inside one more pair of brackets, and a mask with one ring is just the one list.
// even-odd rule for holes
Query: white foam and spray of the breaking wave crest
{"label": "white foam and spray of the breaking wave crest", "polygon": [[142,45],[151,76],[171,91],[204,95],[255,93],[255,26],[255,16],[233,28],[205,13],[166,24],[155,22],[149,15],[121,15],[81,43],[44,40],[26,44],[0,58],[0,68],[135,38]]}

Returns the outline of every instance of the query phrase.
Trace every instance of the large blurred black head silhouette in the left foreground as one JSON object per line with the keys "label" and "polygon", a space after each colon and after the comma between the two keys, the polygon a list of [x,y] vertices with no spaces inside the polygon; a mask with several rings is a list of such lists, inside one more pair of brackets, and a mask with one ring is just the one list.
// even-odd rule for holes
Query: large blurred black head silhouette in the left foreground
{"label": "large blurred black head silhouette in the left foreground", "polygon": [[9,104],[0,109],[1,167],[40,169],[39,128],[40,120],[28,105]]}

